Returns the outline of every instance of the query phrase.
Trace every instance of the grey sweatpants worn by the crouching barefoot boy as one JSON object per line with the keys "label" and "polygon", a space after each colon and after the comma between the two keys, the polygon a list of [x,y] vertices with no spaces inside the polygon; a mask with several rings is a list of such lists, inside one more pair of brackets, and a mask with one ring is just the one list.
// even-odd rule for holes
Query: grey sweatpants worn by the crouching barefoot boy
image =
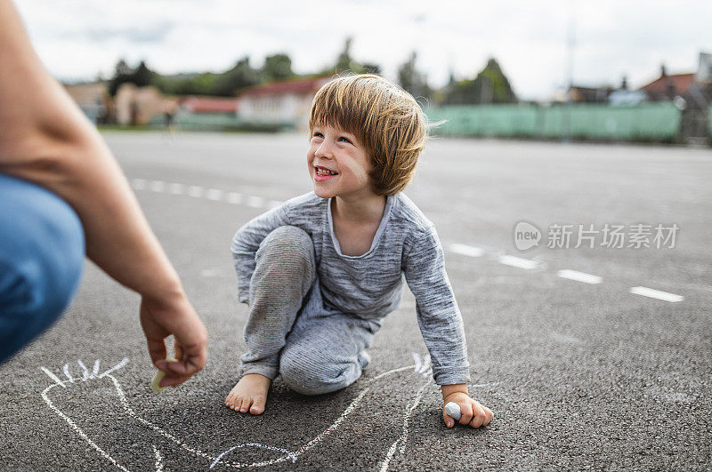
{"label": "grey sweatpants worn by the crouching barefoot boy", "polygon": [[271,231],[255,263],[239,376],[273,380],[281,374],[289,388],[306,395],[351,385],[368,364],[365,349],[380,322],[325,307],[312,238],[301,228]]}

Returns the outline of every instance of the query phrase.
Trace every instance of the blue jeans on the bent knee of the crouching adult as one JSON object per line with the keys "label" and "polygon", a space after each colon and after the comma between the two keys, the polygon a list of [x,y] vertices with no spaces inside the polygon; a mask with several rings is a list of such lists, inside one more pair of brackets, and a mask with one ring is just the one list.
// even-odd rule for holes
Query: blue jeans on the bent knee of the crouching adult
{"label": "blue jeans on the bent knee of the crouching adult", "polygon": [[67,308],[84,257],[84,228],[69,204],[0,173],[0,363]]}

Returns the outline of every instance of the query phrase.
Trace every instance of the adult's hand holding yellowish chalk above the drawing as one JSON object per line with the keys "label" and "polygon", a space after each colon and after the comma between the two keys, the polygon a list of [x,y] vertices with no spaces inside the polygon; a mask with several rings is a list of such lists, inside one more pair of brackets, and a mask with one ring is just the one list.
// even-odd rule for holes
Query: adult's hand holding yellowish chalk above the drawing
{"label": "adult's hand holding yellowish chalk above the drawing", "polygon": [[[177,387],[206,364],[207,331],[185,294],[162,300],[142,297],[141,325],[149,345],[151,362],[166,372],[160,387]],[[166,360],[166,337],[173,334],[175,359]]]}

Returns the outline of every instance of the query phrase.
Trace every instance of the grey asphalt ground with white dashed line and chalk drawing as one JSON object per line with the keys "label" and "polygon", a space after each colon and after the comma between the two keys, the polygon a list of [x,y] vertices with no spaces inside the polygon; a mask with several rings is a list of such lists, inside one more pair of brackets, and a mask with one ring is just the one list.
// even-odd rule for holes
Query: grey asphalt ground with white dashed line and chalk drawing
{"label": "grey asphalt ground with white dashed line and chalk drawing", "polygon": [[[307,137],[104,137],[206,323],[208,363],[153,393],[138,296],[87,262],[67,313],[0,366],[0,469],[712,468],[712,150],[428,144],[405,193],[438,229],[470,393],[495,413],[475,430],[442,421],[407,289],[351,387],[301,396],[278,379],[263,415],[227,409],[247,319],[231,236],[312,189]],[[520,221],[538,247],[516,247]],[[622,248],[602,244],[615,224]],[[595,247],[574,247],[578,225],[600,231]],[[635,225],[676,225],[674,244],[637,247]]]}

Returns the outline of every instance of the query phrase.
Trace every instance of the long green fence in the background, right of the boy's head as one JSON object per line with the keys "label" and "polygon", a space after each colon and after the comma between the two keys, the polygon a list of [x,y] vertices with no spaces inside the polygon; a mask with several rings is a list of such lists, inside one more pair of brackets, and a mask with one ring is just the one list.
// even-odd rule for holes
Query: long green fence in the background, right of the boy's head
{"label": "long green fence in the background, right of the boy's head", "polygon": [[669,102],[632,107],[457,105],[432,108],[427,116],[432,122],[446,120],[434,130],[445,135],[562,138],[568,134],[574,139],[672,140],[680,128],[681,112]]}

